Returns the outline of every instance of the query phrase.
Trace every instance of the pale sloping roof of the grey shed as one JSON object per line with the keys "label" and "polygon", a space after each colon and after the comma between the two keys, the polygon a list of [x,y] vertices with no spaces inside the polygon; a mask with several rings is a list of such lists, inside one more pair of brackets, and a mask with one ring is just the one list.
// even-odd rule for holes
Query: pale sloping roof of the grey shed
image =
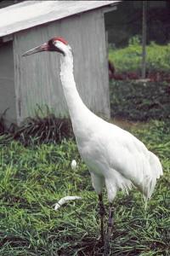
{"label": "pale sloping roof of the grey shed", "polygon": [[25,1],[0,9],[0,37],[118,1]]}

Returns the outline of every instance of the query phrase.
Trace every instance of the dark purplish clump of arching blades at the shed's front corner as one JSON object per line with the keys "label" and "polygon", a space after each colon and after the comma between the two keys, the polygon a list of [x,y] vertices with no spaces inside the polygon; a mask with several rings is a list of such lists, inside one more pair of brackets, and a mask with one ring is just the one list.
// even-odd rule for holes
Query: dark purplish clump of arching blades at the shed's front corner
{"label": "dark purplish clump of arching blades at the shed's front corner", "polygon": [[14,139],[25,145],[29,143],[60,143],[62,139],[74,137],[71,120],[56,118],[54,114],[46,117],[36,116],[26,119],[25,123],[14,131]]}

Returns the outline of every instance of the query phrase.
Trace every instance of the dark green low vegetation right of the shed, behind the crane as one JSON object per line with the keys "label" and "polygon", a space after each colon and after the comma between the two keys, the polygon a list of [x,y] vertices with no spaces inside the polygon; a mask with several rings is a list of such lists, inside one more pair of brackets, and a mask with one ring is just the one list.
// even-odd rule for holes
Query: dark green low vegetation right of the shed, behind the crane
{"label": "dark green low vegetation right of the shed, behind the crane", "polygon": [[170,85],[111,81],[111,116],[129,120],[168,119]]}

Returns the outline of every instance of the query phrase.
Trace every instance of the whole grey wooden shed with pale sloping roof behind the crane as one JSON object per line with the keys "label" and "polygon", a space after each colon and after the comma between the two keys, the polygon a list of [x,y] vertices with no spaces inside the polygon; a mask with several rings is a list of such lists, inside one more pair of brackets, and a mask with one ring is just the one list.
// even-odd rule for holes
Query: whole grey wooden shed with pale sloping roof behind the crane
{"label": "whole grey wooden shed with pale sloping roof behind the crane", "polygon": [[117,1],[25,1],[0,9],[0,113],[20,125],[37,106],[56,116],[68,109],[59,79],[59,55],[21,55],[54,36],[74,54],[74,74],[88,108],[110,116],[105,12]]}

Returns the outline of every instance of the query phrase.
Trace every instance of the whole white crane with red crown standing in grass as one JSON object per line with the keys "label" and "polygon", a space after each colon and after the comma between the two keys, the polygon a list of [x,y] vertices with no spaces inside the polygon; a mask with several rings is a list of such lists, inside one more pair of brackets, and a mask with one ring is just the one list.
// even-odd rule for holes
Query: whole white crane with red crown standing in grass
{"label": "whole white crane with red crown standing in grass", "polygon": [[147,199],[150,199],[156,186],[156,179],[162,175],[161,162],[144,143],[128,131],[106,122],[91,112],[82,102],[77,92],[73,75],[73,55],[71,46],[64,38],[52,38],[24,55],[40,51],[61,53],[60,79],[69,108],[77,147],[82,160],[88,166],[92,183],[99,195],[99,214],[101,218],[101,239],[103,235],[103,216],[105,208],[102,190],[106,186],[110,202],[107,229],[107,244],[113,223],[112,202],[119,189],[128,191],[132,185]]}

